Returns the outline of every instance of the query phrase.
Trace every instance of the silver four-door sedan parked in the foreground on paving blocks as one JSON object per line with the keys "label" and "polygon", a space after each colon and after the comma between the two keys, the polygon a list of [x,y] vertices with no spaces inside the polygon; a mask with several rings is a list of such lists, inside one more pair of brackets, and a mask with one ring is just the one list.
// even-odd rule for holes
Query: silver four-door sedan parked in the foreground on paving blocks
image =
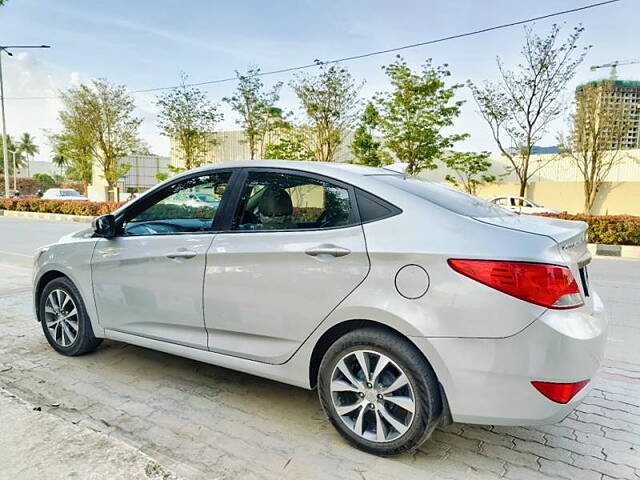
{"label": "silver four-door sedan parked in the foreground on paving blocks", "polygon": [[607,328],[585,232],[384,169],[229,163],[40,249],[35,309],[64,355],[107,338],[317,388],[343,437],[393,455],[581,401]]}

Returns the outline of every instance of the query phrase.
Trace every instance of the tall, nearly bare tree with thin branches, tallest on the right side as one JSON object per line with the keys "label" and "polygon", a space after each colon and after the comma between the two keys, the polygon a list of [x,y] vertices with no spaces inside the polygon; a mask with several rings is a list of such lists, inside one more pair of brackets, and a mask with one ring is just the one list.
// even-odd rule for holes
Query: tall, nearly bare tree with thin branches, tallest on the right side
{"label": "tall, nearly bare tree with thin branches, tallest on the right side", "polygon": [[498,58],[498,83],[469,83],[500,152],[518,177],[521,197],[531,177],[556,158],[549,156],[532,164],[531,150],[542,140],[549,124],[562,114],[561,94],[590,48],[578,49],[582,31],[581,26],[575,27],[562,41],[557,25],[546,37],[525,27],[523,62],[509,70]]}

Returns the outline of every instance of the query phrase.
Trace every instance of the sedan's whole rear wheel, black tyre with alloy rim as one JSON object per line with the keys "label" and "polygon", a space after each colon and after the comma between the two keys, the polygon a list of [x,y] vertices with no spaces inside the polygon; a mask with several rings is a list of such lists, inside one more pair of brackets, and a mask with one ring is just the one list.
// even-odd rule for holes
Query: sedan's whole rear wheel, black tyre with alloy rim
{"label": "sedan's whole rear wheel, black tyre with alloy rim", "polygon": [[[386,365],[381,372],[378,364]],[[402,375],[406,385],[391,390],[404,381]],[[429,363],[407,339],[381,328],[354,330],[329,347],[318,371],[318,396],[347,441],[381,456],[418,448],[438,426],[443,411],[440,386]],[[360,407],[346,413],[358,402]]]}

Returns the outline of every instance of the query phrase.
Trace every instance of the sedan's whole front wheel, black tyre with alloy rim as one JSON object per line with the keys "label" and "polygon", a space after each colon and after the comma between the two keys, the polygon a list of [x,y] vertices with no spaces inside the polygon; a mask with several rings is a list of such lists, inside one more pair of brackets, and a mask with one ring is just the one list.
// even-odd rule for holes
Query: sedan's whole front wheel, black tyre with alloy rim
{"label": "sedan's whole front wheel, black tyre with alloy rim", "polygon": [[80,292],[66,277],[51,280],[42,289],[38,320],[49,345],[63,355],[90,353],[102,343],[93,333]]}

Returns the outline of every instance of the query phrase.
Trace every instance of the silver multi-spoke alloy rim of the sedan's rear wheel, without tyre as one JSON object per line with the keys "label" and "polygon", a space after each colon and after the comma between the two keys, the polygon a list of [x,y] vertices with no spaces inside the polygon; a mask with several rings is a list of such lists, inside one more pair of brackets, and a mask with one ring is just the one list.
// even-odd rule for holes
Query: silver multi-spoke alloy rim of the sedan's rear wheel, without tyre
{"label": "silver multi-spoke alloy rim of the sedan's rear wheel, without tyre", "polygon": [[331,375],[331,399],[342,422],[372,442],[391,442],[413,422],[416,400],[406,373],[386,355],[356,350]]}

